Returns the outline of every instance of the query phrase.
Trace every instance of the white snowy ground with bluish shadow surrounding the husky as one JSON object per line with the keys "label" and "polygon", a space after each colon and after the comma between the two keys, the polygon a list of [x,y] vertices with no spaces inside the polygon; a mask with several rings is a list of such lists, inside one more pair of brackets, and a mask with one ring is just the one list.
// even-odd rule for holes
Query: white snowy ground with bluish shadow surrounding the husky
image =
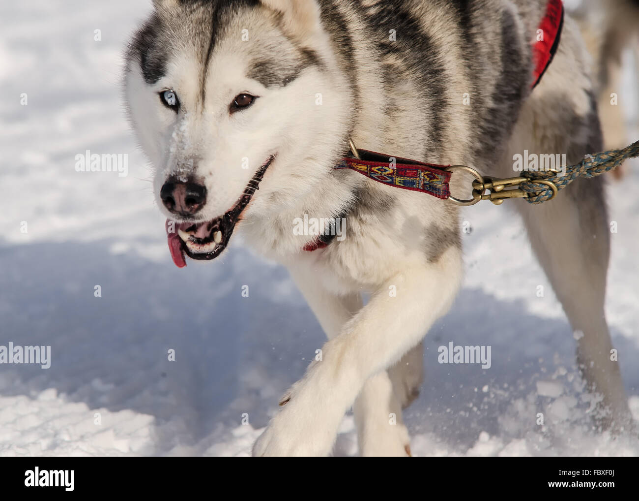
{"label": "white snowy ground with bluish shadow surrounding the husky", "polygon": [[[0,455],[247,455],[323,342],[284,269],[237,240],[213,263],[171,264],[119,96],[121,48],[149,8],[0,5],[0,344],[52,350],[47,370],[0,365]],[[636,109],[636,96],[624,96]],[[128,154],[128,176],[77,173],[74,157],[85,150]],[[633,169],[622,192],[610,186],[624,196],[610,197],[619,232],[607,314],[639,418],[639,164]],[[592,431],[574,338],[517,219],[490,204],[464,217],[472,227],[465,285],[425,341],[426,382],[406,413],[413,453],[638,455],[636,438]],[[449,341],[492,346],[491,369],[436,363]],[[335,454],[356,454],[351,416],[342,431]]]}

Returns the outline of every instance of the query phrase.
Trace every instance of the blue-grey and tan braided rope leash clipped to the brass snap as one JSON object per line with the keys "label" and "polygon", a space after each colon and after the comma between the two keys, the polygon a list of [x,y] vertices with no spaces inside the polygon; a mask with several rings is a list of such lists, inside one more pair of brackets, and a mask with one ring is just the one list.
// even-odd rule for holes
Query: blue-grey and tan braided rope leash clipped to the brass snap
{"label": "blue-grey and tan braided rope leash clipped to the brass snap", "polygon": [[557,187],[557,191],[561,191],[578,177],[599,176],[617,168],[624,160],[635,157],[639,157],[639,141],[621,150],[586,155],[580,163],[566,167],[564,175],[553,171],[523,173],[523,177],[527,180],[521,182],[519,189],[528,194],[526,197],[528,203],[546,202],[553,198],[555,193],[550,186],[539,184],[539,180],[550,181]]}

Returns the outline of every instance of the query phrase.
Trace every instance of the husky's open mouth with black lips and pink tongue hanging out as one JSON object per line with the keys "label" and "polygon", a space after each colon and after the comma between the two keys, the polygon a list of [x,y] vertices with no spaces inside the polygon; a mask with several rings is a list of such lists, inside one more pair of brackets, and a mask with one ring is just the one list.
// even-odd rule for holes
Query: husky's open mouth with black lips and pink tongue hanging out
{"label": "husky's open mouth with black lips and pink tongue hanging out", "polygon": [[259,189],[259,182],[273,159],[275,159],[275,155],[272,155],[259,168],[256,175],[247,184],[242,196],[224,215],[200,223],[176,223],[171,219],[166,220],[169,250],[171,250],[171,257],[175,266],[178,268],[187,266],[185,255],[191,259],[210,260],[215,259],[222,253],[229,243],[240,215],[249,205],[255,191]]}

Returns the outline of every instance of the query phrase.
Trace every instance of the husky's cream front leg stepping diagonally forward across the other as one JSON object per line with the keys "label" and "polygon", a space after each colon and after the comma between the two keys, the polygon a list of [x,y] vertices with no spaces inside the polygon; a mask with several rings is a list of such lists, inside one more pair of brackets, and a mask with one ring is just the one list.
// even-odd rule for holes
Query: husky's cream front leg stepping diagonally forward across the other
{"label": "husky's cream front leg stepping diagonally forward across the other", "polygon": [[[383,282],[369,303],[328,340],[282,399],[253,448],[255,456],[326,456],[344,413],[364,382],[415,346],[452,304],[461,255],[450,248],[436,263],[406,264]],[[389,294],[391,286],[396,294]]]}

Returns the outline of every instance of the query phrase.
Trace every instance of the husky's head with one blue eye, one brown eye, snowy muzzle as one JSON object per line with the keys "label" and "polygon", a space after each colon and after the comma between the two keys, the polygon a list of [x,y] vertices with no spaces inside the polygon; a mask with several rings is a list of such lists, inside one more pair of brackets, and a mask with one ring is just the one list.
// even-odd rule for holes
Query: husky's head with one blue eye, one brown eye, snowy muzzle
{"label": "husky's head with one blue eye, one brown eye, snowy muzzle", "polygon": [[125,98],[181,267],[321,183],[348,106],[314,0],[154,3],[129,45]]}

